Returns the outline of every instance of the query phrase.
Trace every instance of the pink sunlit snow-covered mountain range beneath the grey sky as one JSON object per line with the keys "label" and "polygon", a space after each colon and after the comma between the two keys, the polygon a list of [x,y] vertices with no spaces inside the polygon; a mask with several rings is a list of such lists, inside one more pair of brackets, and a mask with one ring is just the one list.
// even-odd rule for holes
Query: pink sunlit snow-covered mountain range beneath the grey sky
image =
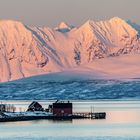
{"label": "pink sunlit snow-covered mountain range beneath the grey sky", "polygon": [[92,71],[98,59],[139,53],[139,32],[118,17],[54,29],[0,21],[1,82],[83,66]]}

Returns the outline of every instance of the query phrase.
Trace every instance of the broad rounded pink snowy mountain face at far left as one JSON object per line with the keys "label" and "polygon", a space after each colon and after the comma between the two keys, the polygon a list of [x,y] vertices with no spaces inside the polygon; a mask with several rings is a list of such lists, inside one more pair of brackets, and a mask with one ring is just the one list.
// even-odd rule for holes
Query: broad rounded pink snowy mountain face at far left
{"label": "broad rounded pink snowy mountain face at far left", "polygon": [[[59,67],[46,42],[22,23],[0,22],[0,81],[32,76]],[[50,49],[51,50],[51,49]],[[49,55],[50,54],[50,55]],[[48,67],[46,66],[48,65]]]}

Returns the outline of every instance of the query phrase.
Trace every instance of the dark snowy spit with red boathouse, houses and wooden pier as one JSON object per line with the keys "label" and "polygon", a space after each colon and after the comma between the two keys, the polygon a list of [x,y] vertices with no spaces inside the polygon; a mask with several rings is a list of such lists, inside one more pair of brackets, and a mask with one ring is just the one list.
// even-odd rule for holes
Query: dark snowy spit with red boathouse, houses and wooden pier
{"label": "dark snowy spit with red boathouse, houses and wooden pier", "polygon": [[[69,101],[56,101],[43,108],[40,103],[33,101],[25,112],[15,112],[13,105],[0,104],[0,121],[23,121],[35,119],[105,119],[105,112],[73,112],[73,104]],[[12,113],[12,114],[11,114]],[[18,114],[18,115],[17,115]],[[28,114],[28,115],[27,115]],[[6,116],[9,115],[9,116]],[[14,117],[13,117],[14,116]]]}

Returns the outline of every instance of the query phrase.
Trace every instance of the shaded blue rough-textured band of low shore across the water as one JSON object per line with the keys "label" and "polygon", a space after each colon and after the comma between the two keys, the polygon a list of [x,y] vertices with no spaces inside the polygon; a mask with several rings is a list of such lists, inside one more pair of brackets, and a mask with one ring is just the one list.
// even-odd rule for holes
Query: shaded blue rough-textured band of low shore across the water
{"label": "shaded blue rough-textured band of low shore across the water", "polygon": [[140,99],[140,81],[25,80],[0,84],[0,100]]}

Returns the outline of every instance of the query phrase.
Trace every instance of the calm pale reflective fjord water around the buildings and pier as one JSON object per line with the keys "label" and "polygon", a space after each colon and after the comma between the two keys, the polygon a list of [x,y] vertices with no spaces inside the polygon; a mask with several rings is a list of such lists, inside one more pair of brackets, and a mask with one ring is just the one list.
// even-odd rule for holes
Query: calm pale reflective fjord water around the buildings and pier
{"label": "calm pale reflective fjord water around the buildings and pier", "polygon": [[[3,101],[7,102],[7,101]],[[31,101],[8,101],[26,109]],[[50,101],[40,101],[45,107]],[[105,120],[0,123],[1,140],[139,140],[140,101],[76,101],[74,111],[106,111]]]}

